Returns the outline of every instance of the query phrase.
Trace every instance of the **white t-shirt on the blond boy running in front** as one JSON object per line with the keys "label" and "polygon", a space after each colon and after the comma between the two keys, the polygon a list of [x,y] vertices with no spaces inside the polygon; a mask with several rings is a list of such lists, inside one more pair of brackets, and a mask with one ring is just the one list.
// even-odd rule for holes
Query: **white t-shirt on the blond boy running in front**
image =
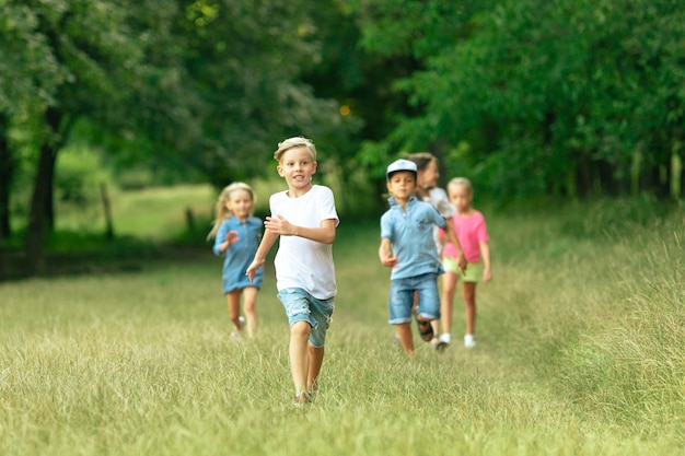
{"label": "white t-shirt on the blond boy running in front", "polygon": [[[271,217],[282,215],[297,226],[320,227],[321,222],[335,219],[333,191],[328,187],[314,185],[299,198],[290,198],[288,191],[271,195]],[[280,236],[276,267],[276,288],[301,288],[312,296],[327,300],[336,295],[333,245],[322,244],[299,236]]]}

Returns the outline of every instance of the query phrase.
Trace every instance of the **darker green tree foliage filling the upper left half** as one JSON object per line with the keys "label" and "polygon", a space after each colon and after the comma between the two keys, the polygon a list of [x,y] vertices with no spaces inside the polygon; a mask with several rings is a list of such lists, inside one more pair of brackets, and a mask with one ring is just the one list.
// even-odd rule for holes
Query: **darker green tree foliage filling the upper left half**
{"label": "darker green tree foliage filling the upper left half", "polygon": [[[20,129],[38,125],[28,135],[36,145],[30,261],[39,261],[53,219],[55,163],[74,127],[112,163],[183,169],[185,178],[200,175],[216,185],[257,174],[285,136],[344,143],[356,124],[299,81],[304,62],[321,58],[314,25],[301,14],[306,4],[4,1],[2,33],[12,39],[0,49],[18,69],[0,67],[7,71],[0,112]],[[24,14],[30,20],[22,23]],[[36,57],[24,65],[26,49]],[[22,112],[37,121],[19,121]],[[3,139],[7,124],[0,124]],[[3,151],[10,163],[9,147]],[[12,178],[3,177],[8,195]],[[0,207],[7,213],[9,202]]]}

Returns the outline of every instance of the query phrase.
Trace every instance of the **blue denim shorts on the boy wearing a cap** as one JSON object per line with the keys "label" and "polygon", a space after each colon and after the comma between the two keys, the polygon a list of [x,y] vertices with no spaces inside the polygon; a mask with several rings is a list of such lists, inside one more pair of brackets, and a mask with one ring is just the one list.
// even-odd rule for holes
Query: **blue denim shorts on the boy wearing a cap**
{"label": "blue denim shorts on the boy wearing a cap", "polygon": [[440,318],[440,295],[438,293],[438,274],[425,273],[405,279],[391,280],[390,285],[390,323],[399,325],[411,321],[414,292],[419,293],[419,314],[423,318]]}

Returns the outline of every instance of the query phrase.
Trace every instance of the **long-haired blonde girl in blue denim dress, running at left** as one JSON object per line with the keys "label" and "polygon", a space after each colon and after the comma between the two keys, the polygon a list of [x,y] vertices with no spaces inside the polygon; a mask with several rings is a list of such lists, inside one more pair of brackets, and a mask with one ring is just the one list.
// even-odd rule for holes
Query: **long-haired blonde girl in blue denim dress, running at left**
{"label": "long-haired blonde girl in blue denim dress, running at left", "polygon": [[[264,268],[259,268],[253,281],[245,276],[262,241],[263,224],[253,215],[254,209],[255,195],[247,184],[229,185],[219,195],[214,224],[207,236],[208,239],[214,238],[214,254],[224,258],[223,293],[234,326],[233,337],[240,336],[245,326],[248,337],[254,337],[257,331],[255,305]],[[241,296],[245,317],[241,316]]]}

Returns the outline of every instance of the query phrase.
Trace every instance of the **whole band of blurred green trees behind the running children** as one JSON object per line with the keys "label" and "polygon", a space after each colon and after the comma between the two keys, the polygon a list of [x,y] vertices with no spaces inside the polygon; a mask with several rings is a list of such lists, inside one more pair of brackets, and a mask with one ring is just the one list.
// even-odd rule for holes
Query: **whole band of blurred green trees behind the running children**
{"label": "whole band of blurred green trees behind the running children", "polygon": [[675,0],[0,0],[0,249],[39,261],[76,145],[220,187],[304,135],[360,217],[419,150],[500,199],[677,199],[684,56]]}

